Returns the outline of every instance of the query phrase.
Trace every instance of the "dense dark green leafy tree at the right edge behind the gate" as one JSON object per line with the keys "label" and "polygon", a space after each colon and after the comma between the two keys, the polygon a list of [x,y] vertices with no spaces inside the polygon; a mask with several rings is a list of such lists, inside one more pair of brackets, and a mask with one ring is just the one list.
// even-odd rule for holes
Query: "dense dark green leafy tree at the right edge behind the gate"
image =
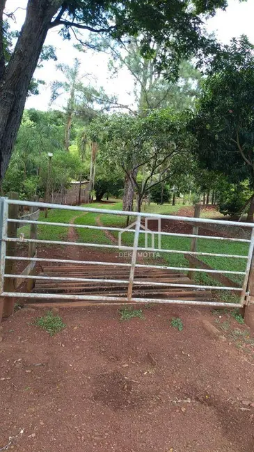
{"label": "dense dark green leafy tree at the right edge behind the gate", "polygon": [[[200,165],[254,191],[254,46],[233,39],[212,61],[191,121]],[[254,194],[248,220],[253,220]]]}

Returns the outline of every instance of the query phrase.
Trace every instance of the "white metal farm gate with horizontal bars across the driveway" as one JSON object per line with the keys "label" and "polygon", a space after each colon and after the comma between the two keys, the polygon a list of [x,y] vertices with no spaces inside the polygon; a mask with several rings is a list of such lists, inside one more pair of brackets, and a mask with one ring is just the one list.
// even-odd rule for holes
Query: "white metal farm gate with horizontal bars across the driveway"
{"label": "white metal farm gate with horizontal bars across the driveway", "polygon": [[[81,305],[88,302],[95,304],[110,303],[120,304],[126,302],[138,302],[138,303],[168,303],[177,305],[201,305],[210,307],[243,307],[248,304],[248,275],[251,268],[251,261],[253,257],[254,248],[254,224],[253,223],[239,223],[224,220],[210,220],[206,218],[189,218],[180,216],[166,216],[157,215],[152,213],[137,213],[127,211],[116,211],[109,209],[93,209],[88,207],[74,207],[59,204],[46,204],[41,202],[27,202],[19,200],[10,200],[7,197],[0,198],[0,238],[1,238],[1,278],[0,278],[0,297],[8,301],[8,298],[24,298],[26,302],[68,302],[71,301],[73,305]],[[134,223],[124,227],[111,227],[107,225],[89,225],[89,224],[72,224],[72,223],[48,223],[48,221],[38,220],[38,214],[33,216],[26,216],[25,218],[10,218],[9,207],[10,206],[23,206],[29,207],[31,211],[35,212],[38,209],[62,209],[65,211],[75,211],[80,213],[80,216],[86,213],[95,213],[98,216],[113,215],[117,218],[124,216]],[[157,229],[154,231],[148,229],[148,221],[156,220]],[[180,221],[193,226],[194,234],[178,234],[177,232],[159,232],[161,227],[161,220]],[[114,224],[118,225],[119,221]],[[17,233],[17,236],[9,234],[11,227],[15,225],[16,230],[24,225],[33,225],[43,227],[74,227],[75,230],[86,229],[93,231],[106,231],[106,234],[115,237],[111,243],[86,243],[86,241],[54,241],[54,240],[41,240],[36,235],[30,236],[29,239],[24,238],[24,234]],[[208,227],[207,225],[219,225],[219,227],[232,227],[238,228],[244,227],[249,232],[248,238],[237,238],[228,236],[212,236],[211,234],[199,235],[198,227]],[[122,245],[122,234],[131,233],[134,235],[134,240],[130,245]],[[119,241],[118,237],[119,236]],[[145,234],[142,238],[142,235]],[[231,255],[226,253],[212,253],[212,252],[199,252],[196,251],[196,246],[191,245],[191,250],[174,250],[161,246],[161,239],[164,236],[169,237],[187,237],[195,244],[196,239],[198,241],[211,240],[211,241],[227,241],[230,242],[243,242],[248,244],[248,252],[246,247],[246,255]],[[32,237],[32,238],[31,238]],[[149,246],[149,242],[151,245]],[[141,242],[141,243],[140,243]],[[157,242],[157,243],[155,243]],[[24,255],[20,253],[14,254],[13,252],[8,255],[6,250],[10,249],[10,243],[28,244],[28,247],[34,247],[40,245],[38,249],[38,255],[33,250],[27,252]],[[129,256],[129,261],[120,261],[120,258],[111,261],[110,253],[104,253],[106,261],[100,259],[68,259],[68,256],[59,257],[57,259],[51,259],[51,257],[45,257],[40,250],[43,250],[42,246],[47,248],[49,245],[61,247],[75,247],[75,250],[84,250],[89,256],[89,250],[115,250],[119,252],[119,256],[125,257],[125,253]],[[15,248],[15,247],[14,247]],[[157,261],[157,265],[151,264],[151,259],[146,259],[149,253],[157,253],[164,256],[167,253],[173,255],[182,255],[189,257],[190,259],[196,259],[196,257],[223,257],[227,259],[244,259],[246,261],[245,271],[233,271],[233,270],[221,270],[219,268],[209,268],[209,266],[174,266],[164,265],[165,261],[160,259]],[[138,259],[138,255],[143,253],[141,259]],[[147,253],[147,254],[145,254]],[[19,255],[17,255],[19,254]],[[67,252],[68,254],[68,252]],[[108,259],[107,259],[108,257]],[[215,259],[216,260],[216,259]],[[190,260],[191,261],[191,260]],[[10,262],[15,263],[28,263],[28,270],[19,271],[16,273],[8,273],[8,268],[11,268]],[[37,267],[35,266],[37,265]],[[19,264],[20,265],[20,264]],[[38,266],[40,265],[40,271]],[[44,265],[44,267],[42,267]],[[205,265],[205,264],[204,264]],[[35,266],[35,268],[33,268]],[[6,272],[7,268],[7,272]],[[15,266],[13,266],[15,268]],[[16,268],[19,266],[16,265]],[[30,271],[30,270],[33,271]],[[205,273],[211,276],[221,275],[229,280],[230,275],[241,275],[243,277],[243,284],[241,287],[234,284],[228,285],[208,285],[208,284],[195,284],[191,277],[186,277],[196,272]],[[31,285],[31,290],[28,291],[25,286],[24,289],[20,289],[24,284],[15,284],[15,289],[9,288],[6,290],[6,281],[13,280],[16,283],[19,280],[23,282],[28,280]],[[230,281],[230,280],[229,280]],[[31,284],[32,283],[32,284]],[[33,284],[35,283],[35,285]],[[239,302],[223,302],[212,298],[211,291],[230,291],[233,293],[239,293]],[[30,301],[29,301],[30,300]],[[77,303],[77,301],[79,303]],[[76,303],[75,303],[76,302]],[[69,303],[68,303],[69,304]]]}

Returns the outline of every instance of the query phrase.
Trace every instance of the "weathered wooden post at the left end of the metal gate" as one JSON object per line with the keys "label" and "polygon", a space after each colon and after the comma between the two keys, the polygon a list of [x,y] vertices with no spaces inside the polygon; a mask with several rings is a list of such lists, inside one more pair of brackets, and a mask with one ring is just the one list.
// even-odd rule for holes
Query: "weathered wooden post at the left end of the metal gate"
{"label": "weathered wooden post at the left end of the metal gate", "polygon": [[[15,191],[10,191],[8,193],[8,198],[10,200],[17,200],[19,198],[18,193]],[[8,218],[17,218],[19,207],[14,204],[9,204],[8,208]],[[17,223],[8,223],[8,237],[17,237]],[[7,242],[6,244],[6,255],[15,256],[16,255],[17,243]],[[12,274],[15,269],[15,261],[6,259],[5,273]],[[14,292],[15,291],[15,278],[6,278],[4,281],[4,291]],[[3,317],[9,317],[14,312],[15,298],[6,297],[3,298]]]}

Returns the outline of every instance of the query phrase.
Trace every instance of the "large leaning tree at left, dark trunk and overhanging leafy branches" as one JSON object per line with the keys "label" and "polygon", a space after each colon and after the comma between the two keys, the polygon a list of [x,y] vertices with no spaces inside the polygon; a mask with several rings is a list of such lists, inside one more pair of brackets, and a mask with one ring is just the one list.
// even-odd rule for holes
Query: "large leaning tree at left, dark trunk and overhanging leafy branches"
{"label": "large leaning tree at left, dark trunk and overhanging leafy branches", "polygon": [[177,71],[180,59],[198,55],[200,49],[207,49],[207,42],[209,52],[214,51],[214,40],[205,37],[202,19],[205,14],[213,15],[216,8],[225,8],[227,0],[28,0],[26,18],[8,61],[5,6],[6,0],[0,0],[0,181],[8,168],[29,84],[49,29],[60,27],[63,38],[77,34],[77,29],[108,33],[114,39],[141,32],[142,52],[149,51],[148,42],[154,39],[161,44],[158,64],[170,64]]}

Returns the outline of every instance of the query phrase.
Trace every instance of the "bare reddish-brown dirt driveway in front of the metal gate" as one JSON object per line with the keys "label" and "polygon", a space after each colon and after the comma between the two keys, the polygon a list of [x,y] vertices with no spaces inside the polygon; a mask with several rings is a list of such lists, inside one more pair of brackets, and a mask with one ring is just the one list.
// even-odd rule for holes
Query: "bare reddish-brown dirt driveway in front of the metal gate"
{"label": "bare reddish-brown dirt driveway in front of the metal gate", "polygon": [[54,337],[32,324],[41,310],[3,322],[0,450],[253,452],[252,350],[211,336],[207,310],[143,313],[121,322],[117,307],[60,309],[67,326]]}

